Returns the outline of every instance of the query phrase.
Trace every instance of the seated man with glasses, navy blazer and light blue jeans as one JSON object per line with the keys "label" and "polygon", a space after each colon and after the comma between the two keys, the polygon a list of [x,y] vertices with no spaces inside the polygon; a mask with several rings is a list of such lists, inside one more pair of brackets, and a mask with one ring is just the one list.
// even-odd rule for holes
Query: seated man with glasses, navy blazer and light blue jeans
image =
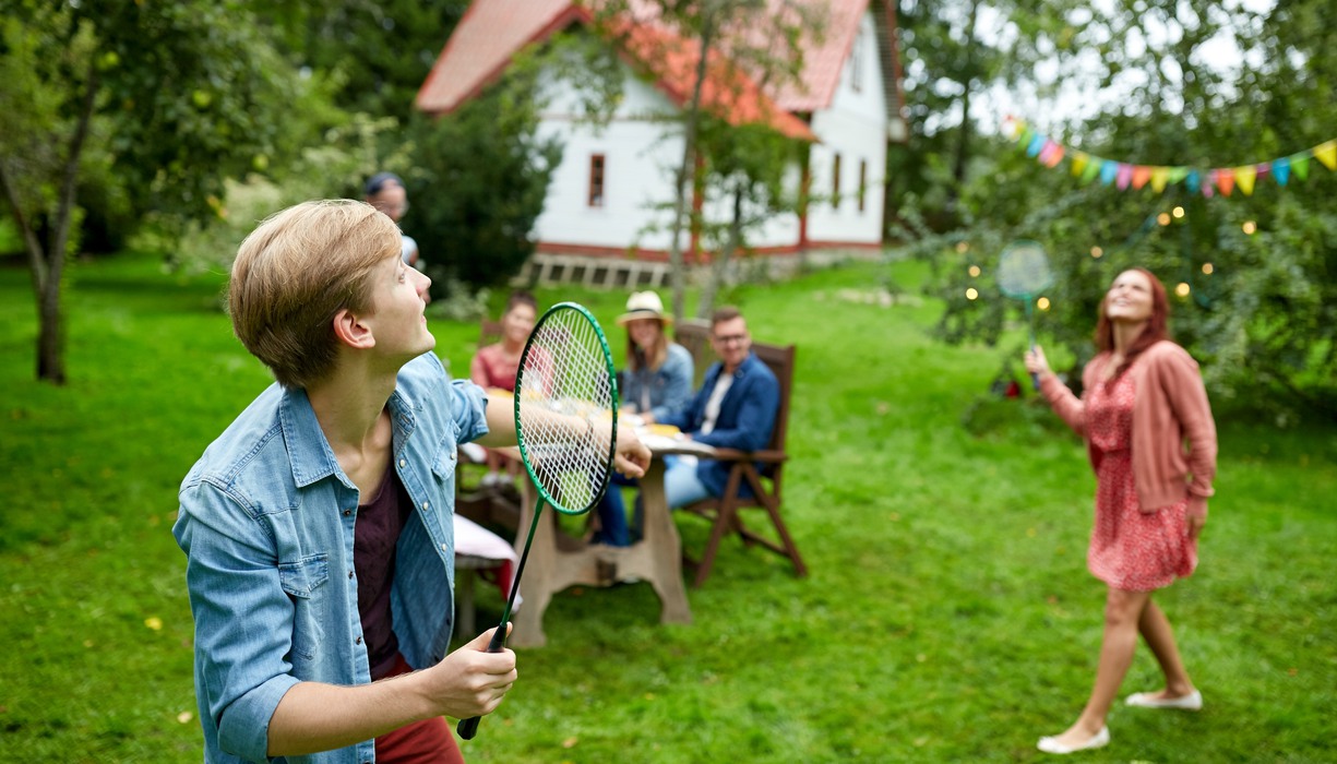
{"label": "seated man with glasses, navy blazer and light blue jeans", "polygon": [[[747,321],[737,308],[721,308],[711,316],[710,345],[719,361],[706,371],[691,401],[659,421],[707,446],[759,451],[775,428],[779,381],[751,352]],[[664,494],[670,507],[683,507],[723,495],[727,480],[729,464],[681,456],[667,464]]]}

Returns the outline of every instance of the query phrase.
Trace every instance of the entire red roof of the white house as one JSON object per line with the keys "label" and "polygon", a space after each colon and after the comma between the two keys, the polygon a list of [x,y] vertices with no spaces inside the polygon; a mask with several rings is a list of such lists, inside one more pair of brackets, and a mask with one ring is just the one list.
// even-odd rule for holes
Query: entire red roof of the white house
{"label": "entire red roof of the white house", "polygon": [[[830,104],[869,0],[813,1],[828,5],[829,17],[821,44],[808,41],[801,82],[767,94],[741,68],[729,66],[723,54],[711,50],[702,102],[733,124],[766,122],[790,138],[816,140],[797,115]],[[674,103],[687,103],[701,55],[698,43],[660,24],[648,5],[635,0],[632,5],[636,19],[612,32],[623,54],[634,66],[648,70]],[[525,45],[591,20],[591,13],[572,0],[475,0],[418,90],[417,107],[448,114],[495,82]]]}

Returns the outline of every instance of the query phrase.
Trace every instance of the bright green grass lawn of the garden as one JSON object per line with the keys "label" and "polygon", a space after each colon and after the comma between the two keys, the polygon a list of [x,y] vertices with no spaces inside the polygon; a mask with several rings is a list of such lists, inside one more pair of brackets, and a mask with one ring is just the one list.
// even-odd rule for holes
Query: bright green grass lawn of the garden
{"label": "bright green grass lawn of the garden", "polygon": [[[932,302],[848,298],[878,277],[852,266],[730,296],[758,340],[798,344],[785,512],[810,578],[729,541],[689,593],[690,626],[659,625],[647,585],[556,597],[550,646],[520,652],[471,761],[1040,760],[1035,739],[1080,709],[1100,640],[1090,468],[1034,401],[985,403],[964,427],[1000,351],[935,343]],[[221,285],[144,256],[78,264],[71,383],[52,388],[32,380],[27,273],[0,268],[3,761],[201,759],[175,490],[267,381]],[[558,298],[611,328],[624,296],[540,294]],[[433,329],[467,368],[476,328]],[[1114,744],[1083,760],[1333,759],[1333,432],[1219,427],[1199,571],[1159,595],[1207,708],[1118,706]],[[1157,678],[1139,650],[1124,692]]]}

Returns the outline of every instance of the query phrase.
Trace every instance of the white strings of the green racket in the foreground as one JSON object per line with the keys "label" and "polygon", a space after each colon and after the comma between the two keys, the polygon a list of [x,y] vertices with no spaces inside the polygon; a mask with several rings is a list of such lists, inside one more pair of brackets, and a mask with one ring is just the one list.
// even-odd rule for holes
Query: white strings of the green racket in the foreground
{"label": "white strings of the green racket in the foreground", "polygon": [[575,312],[560,318],[544,321],[531,340],[519,432],[539,487],[559,511],[580,512],[608,479],[614,392],[596,329]]}

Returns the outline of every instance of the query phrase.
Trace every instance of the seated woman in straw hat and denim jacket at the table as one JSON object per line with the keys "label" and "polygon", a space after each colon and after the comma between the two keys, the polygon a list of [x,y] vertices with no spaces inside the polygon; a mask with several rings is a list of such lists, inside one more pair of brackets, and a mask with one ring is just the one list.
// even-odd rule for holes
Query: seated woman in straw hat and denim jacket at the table
{"label": "seated woman in straw hat and denim jacket at the table", "polygon": [[[663,302],[654,292],[635,292],[627,300],[627,312],[618,324],[627,328],[627,368],[619,375],[618,391],[622,397],[619,413],[639,415],[646,421],[663,419],[691,397],[695,371],[691,353],[664,336],[664,326],[673,317],[664,314]],[[614,475],[608,492],[599,502],[600,530],[596,543],[627,546],[627,512],[619,486],[634,482]]]}

